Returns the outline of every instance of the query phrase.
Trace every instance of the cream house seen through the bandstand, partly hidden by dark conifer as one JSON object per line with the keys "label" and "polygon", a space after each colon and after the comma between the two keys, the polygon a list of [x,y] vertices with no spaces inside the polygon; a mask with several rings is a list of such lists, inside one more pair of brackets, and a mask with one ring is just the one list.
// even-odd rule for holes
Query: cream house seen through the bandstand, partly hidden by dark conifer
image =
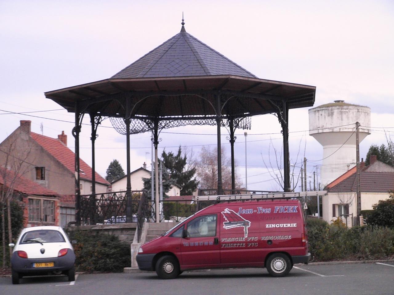
{"label": "cream house seen through the bandstand, partly hidden by dark conifer", "polygon": [[[146,166],[145,163],[144,166]],[[133,191],[143,190],[144,182],[142,179],[150,178],[150,177],[151,177],[151,171],[147,170],[144,167],[140,167],[137,170],[130,172],[131,190]],[[112,192],[125,191],[127,186],[126,175],[112,181],[111,185],[112,185]],[[182,188],[180,186],[175,184],[174,186],[171,186],[169,192],[167,192],[167,195],[180,195],[181,189]]]}

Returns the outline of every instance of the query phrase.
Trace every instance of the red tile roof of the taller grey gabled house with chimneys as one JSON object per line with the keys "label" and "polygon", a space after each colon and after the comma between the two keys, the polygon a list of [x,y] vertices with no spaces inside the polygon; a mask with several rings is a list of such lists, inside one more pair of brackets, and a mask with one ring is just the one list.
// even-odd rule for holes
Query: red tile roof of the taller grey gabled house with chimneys
{"label": "red tile roof of the taller grey gabled house with chimneys", "polygon": [[[65,146],[57,138],[51,138],[48,136],[40,135],[34,132],[30,132],[30,136],[40,146],[42,146],[48,153],[55,157],[61,164],[63,164],[72,174],[75,172],[75,154],[71,149]],[[102,178],[99,173],[96,173],[96,182],[110,185],[108,181]],[[80,177],[88,181],[92,180],[92,168],[80,159]]]}

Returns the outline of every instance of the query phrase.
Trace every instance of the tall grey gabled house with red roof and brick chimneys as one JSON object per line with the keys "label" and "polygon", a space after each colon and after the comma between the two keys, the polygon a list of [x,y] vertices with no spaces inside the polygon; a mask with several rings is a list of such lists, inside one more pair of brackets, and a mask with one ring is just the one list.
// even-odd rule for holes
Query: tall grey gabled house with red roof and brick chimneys
{"label": "tall grey gabled house with red roof and brick chimneys", "polygon": [[[67,135],[62,131],[51,138],[31,131],[31,121],[21,120],[20,126],[0,144],[0,164],[7,154],[23,158],[23,177],[59,195],[75,194],[75,154],[67,147]],[[80,159],[81,194],[92,191],[92,168]],[[96,193],[108,192],[110,183],[95,172]]]}

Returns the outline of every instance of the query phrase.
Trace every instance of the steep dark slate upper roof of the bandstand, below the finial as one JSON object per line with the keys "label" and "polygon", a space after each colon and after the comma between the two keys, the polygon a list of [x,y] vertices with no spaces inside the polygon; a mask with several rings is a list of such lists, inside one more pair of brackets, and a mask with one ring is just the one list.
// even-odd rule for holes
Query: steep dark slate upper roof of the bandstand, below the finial
{"label": "steep dark slate upper roof of the bandstand, below the finial", "polygon": [[182,30],[127,66],[112,79],[234,75],[257,78]]}

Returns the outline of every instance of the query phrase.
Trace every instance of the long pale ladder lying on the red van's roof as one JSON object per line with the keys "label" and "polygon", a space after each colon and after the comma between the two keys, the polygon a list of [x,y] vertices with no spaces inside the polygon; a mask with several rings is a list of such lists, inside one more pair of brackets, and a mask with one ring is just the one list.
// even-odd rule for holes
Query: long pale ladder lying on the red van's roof
{"label": "long pale ladder lying on the red van's roof", "polygon": [[247,200],[277,200],[277,199],[301,199],[306,196],[322,196],[327,191],[310,191],[310,192],[283,192],[268,194],[243,194],[243,195],[198,195],[194,201],[247,201]]}

